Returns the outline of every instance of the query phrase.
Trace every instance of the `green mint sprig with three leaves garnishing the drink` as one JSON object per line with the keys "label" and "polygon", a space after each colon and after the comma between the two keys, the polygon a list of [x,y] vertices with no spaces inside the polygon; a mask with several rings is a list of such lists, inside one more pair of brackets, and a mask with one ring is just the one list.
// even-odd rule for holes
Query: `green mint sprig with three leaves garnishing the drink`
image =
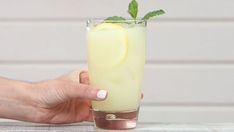
{"label": "green mint sprig with three leaves garnishing the drink", "polygon": [[[132,0],[129,5],[128,5],[128,13],[130,14],[131,18],[133,20],[137,20],[137,15],[138,15],[138,3],[136,0]],[[155,17],[155,16],[160,16],[165,14],[165,11],[160,9],[160,10],[153,10],[145,14],[141,20],[148,21],[149,19]],[[111,16],[105,19],[105,21],[124,21],[126,20],[124,17],[120,16]]]}

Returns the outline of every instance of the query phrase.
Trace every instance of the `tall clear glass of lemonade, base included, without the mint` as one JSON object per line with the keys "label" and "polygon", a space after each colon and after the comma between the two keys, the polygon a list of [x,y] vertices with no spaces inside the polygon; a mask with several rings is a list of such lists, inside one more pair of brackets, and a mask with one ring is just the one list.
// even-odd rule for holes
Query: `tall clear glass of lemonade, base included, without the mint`
{"label": "tall clear glass of lemonade, base included, without the mint", "polygon": [[145,64],[146,21],[87,21],[90,84],[108,91],[93,101],[95,125],[102,129],[136,127]]}

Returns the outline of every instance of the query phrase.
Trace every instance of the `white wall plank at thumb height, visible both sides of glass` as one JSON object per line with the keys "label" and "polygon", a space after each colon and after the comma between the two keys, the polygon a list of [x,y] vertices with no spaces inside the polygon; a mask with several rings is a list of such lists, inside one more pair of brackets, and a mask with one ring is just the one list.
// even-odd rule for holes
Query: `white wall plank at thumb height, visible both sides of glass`
{"label": "white wall plank at thumb height, visible both sides of glass", "polygon": [[[79,64],[1,65],[0,75],[28,81],[51,79]],[[234,105],[233,65],[146,65],[144,104]]]}

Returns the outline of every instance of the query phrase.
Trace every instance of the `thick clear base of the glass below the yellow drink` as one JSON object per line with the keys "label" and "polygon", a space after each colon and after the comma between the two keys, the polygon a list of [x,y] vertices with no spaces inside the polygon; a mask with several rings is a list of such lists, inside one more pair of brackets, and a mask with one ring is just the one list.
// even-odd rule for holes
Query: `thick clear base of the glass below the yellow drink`
{"label": "thick clear base of the glass below the yellow drink", "polygon": [[126,130],[137,124],[138,111],[104,112],[93,110],[95,125],[101,129]]}

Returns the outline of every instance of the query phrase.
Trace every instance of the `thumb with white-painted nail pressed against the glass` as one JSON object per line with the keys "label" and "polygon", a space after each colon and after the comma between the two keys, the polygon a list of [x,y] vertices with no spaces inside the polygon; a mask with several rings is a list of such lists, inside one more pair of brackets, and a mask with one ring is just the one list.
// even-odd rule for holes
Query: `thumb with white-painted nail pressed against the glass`
{"label": "thumb with white-painted nail pressed against the glass", "polygon": [[101,90],[85,84],[71,82],[71,85],[62,87],[65,98],[81,98],[89,100],[104,100],[107,97],[107,91]]}

